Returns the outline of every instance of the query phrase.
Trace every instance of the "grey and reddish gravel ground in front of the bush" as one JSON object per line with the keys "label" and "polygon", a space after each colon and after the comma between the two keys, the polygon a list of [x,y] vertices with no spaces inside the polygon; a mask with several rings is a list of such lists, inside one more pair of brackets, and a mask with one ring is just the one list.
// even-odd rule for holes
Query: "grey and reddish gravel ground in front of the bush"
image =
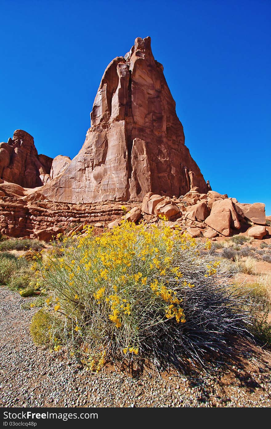
{"label": "grey and reddish gravel ground in front of the bush", "polygon": [[[27,298],[28,300],[31,298]],[[198,378],[144,372],[140,378],[107,367],[81,369],[65,353],[36,347],[29,324],[34,308],[0,287],[0,406],[2,407],[270,407],[271,353],[221,375]],[[260,354],[259,354],[260,353]],[[253,357],[254,356],[254,357]]]}

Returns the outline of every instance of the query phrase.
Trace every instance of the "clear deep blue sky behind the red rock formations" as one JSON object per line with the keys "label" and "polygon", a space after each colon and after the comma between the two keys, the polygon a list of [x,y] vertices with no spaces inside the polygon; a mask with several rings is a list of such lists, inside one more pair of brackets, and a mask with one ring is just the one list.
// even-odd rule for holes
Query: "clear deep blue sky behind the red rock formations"
{"label": "clear deep blue sky behind the red rock formations", "polygon": [[151,36],[205,179],[271,215],[269,0],[2,0],[0,11],[0,141],[21,128],[39,153],[74,157],[105,67]]}

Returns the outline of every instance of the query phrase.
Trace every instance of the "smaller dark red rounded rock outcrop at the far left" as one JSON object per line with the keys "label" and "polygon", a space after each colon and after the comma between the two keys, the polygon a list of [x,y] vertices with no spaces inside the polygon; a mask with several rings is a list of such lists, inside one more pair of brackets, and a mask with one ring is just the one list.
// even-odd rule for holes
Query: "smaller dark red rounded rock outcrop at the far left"
{"label": "smaller dark red rounded rock outcrop at the far left", "polygon": [[50,178],[53,159],[38,155],[34,139],[23,130],[15,130],[12,139],[0,143],[0,177],[22,187],[42,186]]}

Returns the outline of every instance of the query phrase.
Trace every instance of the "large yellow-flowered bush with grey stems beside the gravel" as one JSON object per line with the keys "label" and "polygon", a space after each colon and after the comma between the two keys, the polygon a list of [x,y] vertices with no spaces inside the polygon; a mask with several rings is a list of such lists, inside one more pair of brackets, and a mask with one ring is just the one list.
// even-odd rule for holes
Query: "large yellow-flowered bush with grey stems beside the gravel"
{"label": "large yellow-flowered bush with grey stems beside the gravel", "polygon": [[[107,358],[157,368],[204,365],[211,351],[229,353],[228,335],[246,335],[244,296],[222,281],[219,262],[169,227],[125,222],[95,237],[64,238],[36,269],[52,290],[50,335],[90,369]],[[40,313],[41,317],[43,313]],[[248,335],[248,332],[247,332]]]}

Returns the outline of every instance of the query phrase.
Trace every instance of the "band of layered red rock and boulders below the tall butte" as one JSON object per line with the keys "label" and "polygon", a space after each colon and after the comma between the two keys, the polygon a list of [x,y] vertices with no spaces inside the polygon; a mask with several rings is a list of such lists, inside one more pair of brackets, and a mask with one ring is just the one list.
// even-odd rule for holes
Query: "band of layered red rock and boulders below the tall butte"
{"label": "band of layered red rock and boulders below the tall butte", "polygon": [[[149,192],[143,202],[86,204],[51,202],[37,191],[30,193],[10,183],[0,184],[0,192],[4,194],[0,194],[0,233],[12,237],[30,236],[48,241],[57,233],[81,232],[86,224],[113,228],[122,220],[149,224],[161,222],[160,218],[192,237],[215,240],[216,236],[246,233],[262,239],[271,234],[271,227],[264,222],[264,204],[241,205],[236,199],[219,193],[213,202],[211,191],[200,194],[192,190],[179,199]],[[252,223],[255,226],[250,228]]]}

